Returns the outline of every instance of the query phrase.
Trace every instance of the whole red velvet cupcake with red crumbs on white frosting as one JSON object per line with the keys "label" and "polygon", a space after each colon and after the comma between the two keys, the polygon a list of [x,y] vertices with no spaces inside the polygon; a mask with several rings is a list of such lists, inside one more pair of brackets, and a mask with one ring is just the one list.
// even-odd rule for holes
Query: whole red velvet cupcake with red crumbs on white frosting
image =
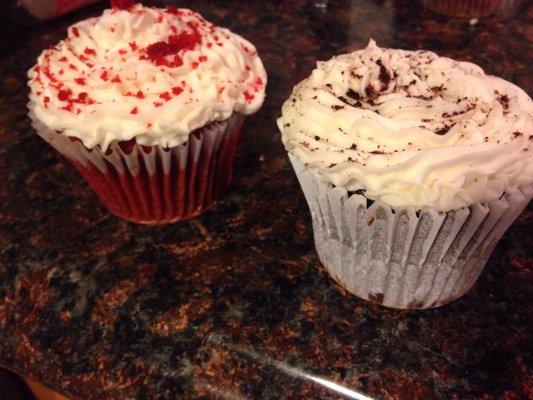
{"label": "whole red velvet cupcake with red crumbs on white frosting", "polygon": [[73,25],[28,75],[37,133],[110,212],[146,224],[216,202],[266,84],[240,36],[190,10],[142,5]]}

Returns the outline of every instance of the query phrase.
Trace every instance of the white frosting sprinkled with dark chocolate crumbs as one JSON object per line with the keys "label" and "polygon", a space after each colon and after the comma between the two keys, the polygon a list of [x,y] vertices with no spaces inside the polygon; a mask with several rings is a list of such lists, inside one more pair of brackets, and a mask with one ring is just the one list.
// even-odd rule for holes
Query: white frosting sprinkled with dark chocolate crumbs
{"label": "white frosting sprinkled with dark chocolate crumbs", "polygon": [[348,191],[447,211],[533,182],[533,102],[477,65],[379,48],[319,62],[278,119],[287,151]]}

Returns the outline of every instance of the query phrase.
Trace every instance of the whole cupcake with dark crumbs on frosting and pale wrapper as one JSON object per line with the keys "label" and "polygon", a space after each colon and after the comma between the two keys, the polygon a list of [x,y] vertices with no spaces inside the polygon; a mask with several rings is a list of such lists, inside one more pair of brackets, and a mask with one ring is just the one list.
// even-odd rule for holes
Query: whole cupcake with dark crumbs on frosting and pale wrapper
{"label": "whole cupcake with dark crumbs on frosting and pale wrapper", "polygon": [[319,62],[278,126],[320,260],[389,307],[466,293],[533,195],[531,99],[428,51],[371,41]]}

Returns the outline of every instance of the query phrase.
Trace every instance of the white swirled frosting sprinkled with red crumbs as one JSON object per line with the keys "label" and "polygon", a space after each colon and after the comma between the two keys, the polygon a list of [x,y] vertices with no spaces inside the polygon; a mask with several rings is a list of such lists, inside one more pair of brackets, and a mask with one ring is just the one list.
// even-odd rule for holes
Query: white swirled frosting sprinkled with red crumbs
{"label": "white swirled frosting sprinkled with red crumbs", "polygon": [[30,108],[86,147],[112,141],[172,147],[265,96],[255,47],[186,9],[135,5],[71,26],[28,76]]}

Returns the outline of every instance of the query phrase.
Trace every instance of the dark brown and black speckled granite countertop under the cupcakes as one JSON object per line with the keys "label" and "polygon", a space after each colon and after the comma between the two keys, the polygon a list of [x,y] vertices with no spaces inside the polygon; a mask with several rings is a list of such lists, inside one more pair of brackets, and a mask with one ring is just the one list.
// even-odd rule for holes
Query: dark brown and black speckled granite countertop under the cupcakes
{"label": "dark brown and black speckled granite countertop under the cupcakes", "polygon": [[162,227],[109,215],[26,117],[26,70],[103,6],[4,43],[0,365],[83,399],[533,398],[531,208],[455,303],[369,304],[321,267],[275,125],[317,59],[370,37],[476,62],[532,93],[531,3],[512,21],[471,26],[407,0],[194,2],[257,45],[268,97],[245,123],[223,201]]}

